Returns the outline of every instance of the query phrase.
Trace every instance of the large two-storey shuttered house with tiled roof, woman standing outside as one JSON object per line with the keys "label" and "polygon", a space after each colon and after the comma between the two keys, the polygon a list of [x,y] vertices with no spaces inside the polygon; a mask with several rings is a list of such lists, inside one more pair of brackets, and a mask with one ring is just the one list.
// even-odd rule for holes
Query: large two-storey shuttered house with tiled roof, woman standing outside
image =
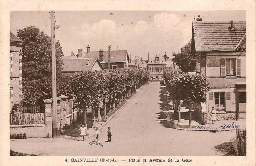
{"label": "large two-storey shuttered house with tiled roof, woman standing outside", "polygon": [[191,51],[198,55],[196,73],[212,87],[205,111],[215,107],[222,119],[245,119],[246,22],[194,21]]}

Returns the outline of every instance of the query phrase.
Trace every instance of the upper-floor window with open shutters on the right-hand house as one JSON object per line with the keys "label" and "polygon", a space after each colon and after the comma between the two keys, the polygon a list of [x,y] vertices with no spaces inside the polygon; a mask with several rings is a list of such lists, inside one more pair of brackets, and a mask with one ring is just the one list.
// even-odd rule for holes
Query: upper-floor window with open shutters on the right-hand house
{"label": "upper-floor window with open shutters on the right-hand house", "polygon": [[221,59],[221,76],[241,76],[241,59]]}

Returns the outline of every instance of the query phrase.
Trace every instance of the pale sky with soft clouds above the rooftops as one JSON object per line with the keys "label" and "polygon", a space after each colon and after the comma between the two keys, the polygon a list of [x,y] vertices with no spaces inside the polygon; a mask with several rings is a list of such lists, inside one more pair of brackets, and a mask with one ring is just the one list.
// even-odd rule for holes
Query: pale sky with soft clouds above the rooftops
{"label": "pale sky with soft clouds above the rooftops", "polygon": [[[10,31],[36,26],[51,36],[50,11],[12,11]],[[191,40],[192,22],[200,14],[203,21],[245,21],[245,11],[56,11],[56,39],[63,54],[77,54],[90,45],[91,51],[128,50],[147,59],[155,55],[172,58]]]}

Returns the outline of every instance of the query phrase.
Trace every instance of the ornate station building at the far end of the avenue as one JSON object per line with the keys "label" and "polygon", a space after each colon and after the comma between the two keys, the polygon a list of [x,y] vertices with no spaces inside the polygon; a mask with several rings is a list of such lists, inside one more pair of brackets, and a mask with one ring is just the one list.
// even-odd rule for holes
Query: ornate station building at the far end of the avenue
{"label": "ornate station building at the far end of the avenue", "polygon": [[147,64],[149,80],[164,80],[164,70],[166,62],[162,56],[155,56]]}

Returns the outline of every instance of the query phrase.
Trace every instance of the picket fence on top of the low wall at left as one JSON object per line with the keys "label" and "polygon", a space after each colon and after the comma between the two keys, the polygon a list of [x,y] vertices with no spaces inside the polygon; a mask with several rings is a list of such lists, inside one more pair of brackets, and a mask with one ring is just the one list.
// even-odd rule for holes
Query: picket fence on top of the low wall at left
{"label": "picket fence on top of the low wall at left", "polygon": [[44,106],[24,106],[10,113],[10,124],[45,124]]}

